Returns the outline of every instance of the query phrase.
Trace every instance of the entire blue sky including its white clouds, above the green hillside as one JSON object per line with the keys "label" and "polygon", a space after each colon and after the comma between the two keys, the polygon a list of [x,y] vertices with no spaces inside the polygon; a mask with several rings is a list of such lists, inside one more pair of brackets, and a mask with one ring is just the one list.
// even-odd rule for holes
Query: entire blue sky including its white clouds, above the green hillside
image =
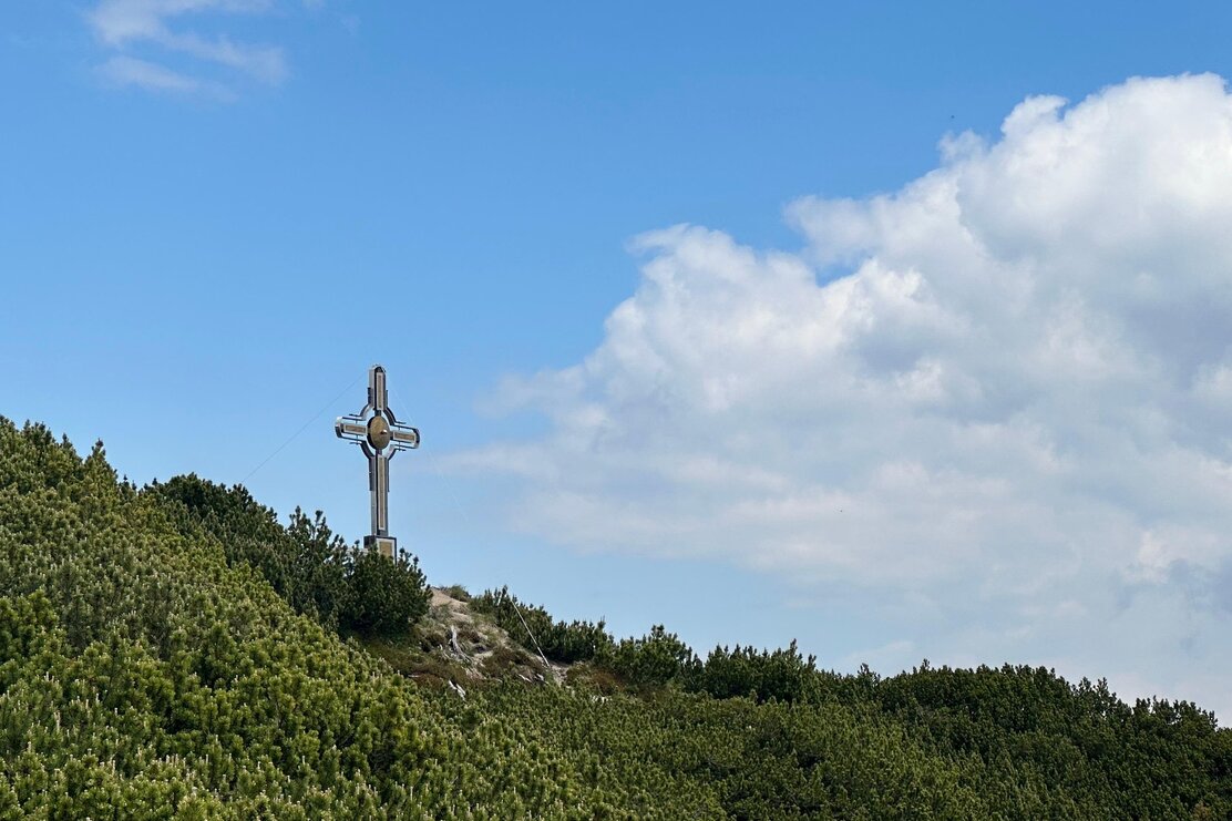
{"label": "entire blue sky including its white clouds, above the green hillside", "polygon": [[[357,539],[331,419],[379,361],[424,433],[393,529],[436,583],[1226,715],[1230,22],[7,4],[0,414]],[[919,240],[954,226],[978,254]]]}

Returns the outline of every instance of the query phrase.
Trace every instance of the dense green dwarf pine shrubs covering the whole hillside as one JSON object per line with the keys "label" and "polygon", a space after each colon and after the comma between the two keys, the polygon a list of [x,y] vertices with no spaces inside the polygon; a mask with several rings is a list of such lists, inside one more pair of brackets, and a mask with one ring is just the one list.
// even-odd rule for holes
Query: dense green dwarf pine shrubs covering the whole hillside
{"label": "dense green dwarf pine shrubs covering the whole hillside", "polygon": [[0,419],[0,819],[1232,817],[1214,716],[1045,669],[701,660],[492,595],[476,609],[580,663],[463,700],[356,642],[423,605],[418,567],[377,558]]}

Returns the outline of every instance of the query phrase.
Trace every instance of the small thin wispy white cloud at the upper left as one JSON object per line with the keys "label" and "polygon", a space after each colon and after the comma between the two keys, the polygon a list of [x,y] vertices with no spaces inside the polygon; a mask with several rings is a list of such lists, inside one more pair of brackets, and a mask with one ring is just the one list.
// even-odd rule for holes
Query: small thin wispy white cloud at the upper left
{"label": "small thin wispy white cloud at the upper left", "polygon": [[[118,71],[143,78],[127,81],[129,85],[159,90],[177,85],[175,90],[181,92],[217,95],[217,90],[224,88],[222,81],[201,75],[219,68],[267,85],[282,83],[288,74],[283,49],[235,42],[225,35],[203,36],[185,31],[184,25],[200,25],[202,18],[219,15],[262,14],[271,7],[270,0],[101,0],[87,14],[87,20],[99,42],[113,52],[113,57],[100,67],[105,78],[115,81]],[[129,54],[132,49],[153,54],[138,58]],[[169,59],[175,60],[177,68],[166,65]],[[184,63],[186,65],[179,65]],[[180,83],[175,83],[176,78]]]}

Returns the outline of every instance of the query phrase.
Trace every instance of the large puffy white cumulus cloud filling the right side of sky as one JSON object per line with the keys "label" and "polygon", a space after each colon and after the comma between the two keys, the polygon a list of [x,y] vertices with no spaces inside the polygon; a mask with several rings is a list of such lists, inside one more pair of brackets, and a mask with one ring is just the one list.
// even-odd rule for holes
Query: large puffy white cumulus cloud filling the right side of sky
{"label": "large puffy white cumulus cloud filling the right side of sky", "polygon": [[898,191],[787,218],[798,251],[641,237],[601,344],[501,390],[549,433],[455,467],[516,477],[513,525],[562,545],[876,610],[887,663],[1031,661],[1232,715],[1223,81],[1031,97]]}

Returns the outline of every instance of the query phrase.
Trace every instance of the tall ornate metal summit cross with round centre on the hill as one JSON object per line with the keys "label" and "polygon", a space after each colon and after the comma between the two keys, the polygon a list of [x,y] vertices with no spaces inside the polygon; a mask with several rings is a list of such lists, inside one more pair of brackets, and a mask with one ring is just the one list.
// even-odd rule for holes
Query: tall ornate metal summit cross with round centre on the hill
{"label": "tall ornate metal summit cross with round centre on the hill", "polygon": [[398,553],[398,540],[389,535],[389,460],[400,450],[419,447],[419,430],[393,415],[383,367],[368,369],[368,403],[352,417],[339,417],[334,433],[359,445],[368,457],[372,535],[363,537],[363,546],[393,557]]}

